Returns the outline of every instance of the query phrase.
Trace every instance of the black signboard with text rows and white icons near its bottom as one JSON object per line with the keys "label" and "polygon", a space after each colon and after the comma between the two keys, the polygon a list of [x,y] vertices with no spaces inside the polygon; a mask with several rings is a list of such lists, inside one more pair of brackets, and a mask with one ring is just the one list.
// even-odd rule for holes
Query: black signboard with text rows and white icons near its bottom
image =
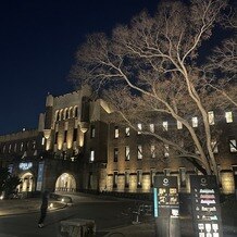
{"label": "black signboard with text rows and white icons near its bottom", "polygon": [[191,202],[197,237],[223,237],[220,195],[213,175],[191,175]]}

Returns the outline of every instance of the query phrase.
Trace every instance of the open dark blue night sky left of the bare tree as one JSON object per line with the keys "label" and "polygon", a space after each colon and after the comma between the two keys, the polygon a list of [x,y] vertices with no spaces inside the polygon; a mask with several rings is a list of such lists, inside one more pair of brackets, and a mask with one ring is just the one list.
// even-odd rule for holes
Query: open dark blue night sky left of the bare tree
{"label": "open dark blue night sky left of the bare tree", "polygon": [[35,128],[48,92],[72,91],[77,47],[159,0],[5,0],[0,4],[0,135]]}

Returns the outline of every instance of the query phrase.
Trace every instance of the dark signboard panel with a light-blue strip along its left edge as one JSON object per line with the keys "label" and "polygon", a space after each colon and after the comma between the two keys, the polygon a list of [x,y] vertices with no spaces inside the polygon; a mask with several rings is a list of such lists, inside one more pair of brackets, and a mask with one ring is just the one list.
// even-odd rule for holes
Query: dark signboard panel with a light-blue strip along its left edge
{"label": "dark signboard panel with a light-blue strip along its left edge", "polygon": [[[167,215],[178,215],[178,187],[175,176],[154,176],[154,217],[159,216],[159,209],[170,209]],[[164,212],[163,212],[164,213]]]}

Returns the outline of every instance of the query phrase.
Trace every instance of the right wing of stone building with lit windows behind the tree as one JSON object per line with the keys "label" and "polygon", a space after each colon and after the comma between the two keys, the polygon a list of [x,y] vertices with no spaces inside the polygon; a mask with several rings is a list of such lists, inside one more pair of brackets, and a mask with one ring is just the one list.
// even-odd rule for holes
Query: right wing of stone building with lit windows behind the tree
{"label": "right wing of stone building with lit windows behind the tree", "polygon": [[[212,128],[222,132],[220,139],[213,141],[221,189],[224,194],[234,194],[237,189],[237,111],[210,111],[209,114],[214,120],[211,122]],[[198,118],[194,118],[192,125],[198,126]],[[164,126],[166,133],[184,130],[177,122],[167,118],[153,124],[137,124],[137,130],[120,124],[109,124],[108,190],[150,192],[154,175],[171,175],[177,176],[179,191],[190,191],[190,175],[200,174],[196,166],[184,158],[170,158],[169,148],[162,151],[163,154],[158,154],[155,150],[161,147],[152,144],[149,136],[142,136],[142,129],[153,133],[160,125]],[[162,155],[164,159],[161,159]]]}

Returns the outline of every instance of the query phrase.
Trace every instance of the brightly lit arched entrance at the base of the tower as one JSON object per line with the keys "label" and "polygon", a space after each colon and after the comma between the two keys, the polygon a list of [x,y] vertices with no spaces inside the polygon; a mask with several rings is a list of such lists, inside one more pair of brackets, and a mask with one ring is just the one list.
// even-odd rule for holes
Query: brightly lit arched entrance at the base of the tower
{"label": "brightly lit arched entrance at the base of the tower", "polygon": [[60,175],[55,183],[55,191],[76,191],[76,179],[68,173]]}

